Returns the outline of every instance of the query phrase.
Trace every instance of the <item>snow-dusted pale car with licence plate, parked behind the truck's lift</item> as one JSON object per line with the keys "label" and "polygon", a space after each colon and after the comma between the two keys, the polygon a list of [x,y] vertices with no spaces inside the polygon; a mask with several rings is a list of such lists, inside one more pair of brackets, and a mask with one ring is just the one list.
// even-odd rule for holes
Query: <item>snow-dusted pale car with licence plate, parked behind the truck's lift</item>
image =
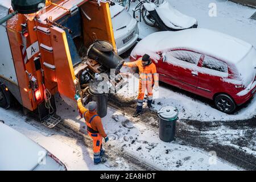
{"label": "snow-dusted pale car with licence plate, parked behind the truck's lift", "polygon": [[123,6],[117,4],[110,6],[110,14],[117,53],[121,55],[137,42],[139,38],[138,23]]}

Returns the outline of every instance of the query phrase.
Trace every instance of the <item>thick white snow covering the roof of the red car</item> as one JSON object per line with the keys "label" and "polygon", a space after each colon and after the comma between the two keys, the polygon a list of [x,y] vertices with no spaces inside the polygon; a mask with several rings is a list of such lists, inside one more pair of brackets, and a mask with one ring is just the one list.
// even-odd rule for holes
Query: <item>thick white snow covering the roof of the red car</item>
{"label": "thick white snow covering the roof of the red car", "polygon": [[131,52],[131,56],[147,53],[158,60],[157,52],[170,49],[189,49],[229,63],[238,63],[250,51],[252,45],[243,40],[204,28],[181,31],[155,32],[141,40]]}

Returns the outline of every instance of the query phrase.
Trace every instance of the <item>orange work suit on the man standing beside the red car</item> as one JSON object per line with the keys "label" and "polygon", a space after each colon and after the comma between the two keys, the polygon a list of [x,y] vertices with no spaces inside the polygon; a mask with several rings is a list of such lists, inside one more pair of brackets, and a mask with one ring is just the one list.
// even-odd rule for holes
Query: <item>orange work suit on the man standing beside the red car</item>
{"label": "orange work suit on the man standing beside the red car", "polygon": [[137,110],[142,111],[144,93],[147,89],[148,104],[151,105],[153,98],[153,86],[158,86],[158,74],[154,63],[143,67],[142,60],[137,60],[131,63],[124,63],[127,67],[138,67],[139,68],[139,94],[137,100]]}

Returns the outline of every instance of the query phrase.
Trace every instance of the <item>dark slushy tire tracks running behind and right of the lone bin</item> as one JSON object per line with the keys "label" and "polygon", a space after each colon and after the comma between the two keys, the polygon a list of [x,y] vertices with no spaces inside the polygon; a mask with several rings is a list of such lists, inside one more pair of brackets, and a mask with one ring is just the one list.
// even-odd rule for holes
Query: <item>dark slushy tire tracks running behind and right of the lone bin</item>
{"label": "dark slushy tire tracks running behind and right of the lone bin", "polygon": [[[136,101],[133,99],[123,98],[117,95],[109,97],[109,105],[125,113],[131,115],[135,111]],[[149,120],[155,122],[148,122]],[[158,130],[158,116],[156,112],[146,110],[144,114],[139,115],[138,119],[146,123],[153,130]],[[192,147],[202,148],[210,152],[215,151],[218,158],[225,160],[231,164],[241,167],[246,170],[256,170],[256,156],[243,151],[241,148],[236,148],[231,145],[220,144],[210,139],[210,136],[201,131],[210,131],[216,127],[227,126],[232,129],[253,129],[255,130],[255,118],[247,121],[228,121],[228,122],[201,122],[180,119],[176,125],[176,137],[183,140],[184,144]]]}

